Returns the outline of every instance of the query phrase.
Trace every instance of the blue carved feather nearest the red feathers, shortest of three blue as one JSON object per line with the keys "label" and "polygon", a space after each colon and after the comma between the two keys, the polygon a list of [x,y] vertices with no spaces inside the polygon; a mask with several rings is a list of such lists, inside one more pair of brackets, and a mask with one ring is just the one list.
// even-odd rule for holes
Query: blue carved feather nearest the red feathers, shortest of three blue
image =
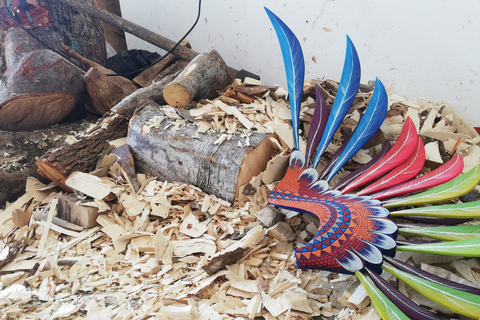
{"label": "blue carved feather nearest the red feathers, shortest of three blue", "polygon": [[387,92],[382,82],[377,78],[375,90],[362,120],[358,123],[352,138],[348,141],[342,154],[335,161],[335,165],[327,176],[327,181],[330,181],[337,174],[338,170],[377,132],[387,115],[387,109]]}

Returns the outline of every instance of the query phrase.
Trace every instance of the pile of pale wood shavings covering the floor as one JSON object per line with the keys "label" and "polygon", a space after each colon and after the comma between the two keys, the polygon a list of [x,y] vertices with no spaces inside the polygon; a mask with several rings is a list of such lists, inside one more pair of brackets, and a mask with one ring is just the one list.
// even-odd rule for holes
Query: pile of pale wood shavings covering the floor
{"label": "pile of pale wood shavings covering the floor", "polygon": [[[334,93],[335,83],[329,86],[323,87],[324,94]],[[311,87],[307,83],[306,91]],[[277,132],[287,157],[292,143],[289,110],[270,92],[244,103],[219,97],[190,110],[190,116],[199,134],[205,129]],[[352,121],[368,94],[356,101]],[[421,133],[424,128],[424,133],[435,131],[444,119],[442,128],[458,122],[444,112],[445,106],[421,106],[394,95],[390,102],[382,127],[389,138],[398,136],[406,115],[418,117],[414,122]],[[236,103],[240,106],[232,108]],[[308,120],[312,104],[307,98],[302,118]],[[464,139],[460,151],[475,156],[478,135],[468,126],[455,128],[444,141],[455,140],[455,134]],[[315,221],[286,212],[283,221],[262,223],[261,213],[273,210],[265,207],[265,190],[273,184],[262,186],[255,177],[253,191],[232,207],[192,186],[137,176],[137,193],[121,178],[102,178],[116,201],[87,199],[103,212],[100,226],[88,229],[54,223],[58,191],[29,180],[27,193],[0,212],[0,318],[379,318],[355,277],[296,269],[293,250],[316,232]],[[25,212],[32,218],[16,228]]]}

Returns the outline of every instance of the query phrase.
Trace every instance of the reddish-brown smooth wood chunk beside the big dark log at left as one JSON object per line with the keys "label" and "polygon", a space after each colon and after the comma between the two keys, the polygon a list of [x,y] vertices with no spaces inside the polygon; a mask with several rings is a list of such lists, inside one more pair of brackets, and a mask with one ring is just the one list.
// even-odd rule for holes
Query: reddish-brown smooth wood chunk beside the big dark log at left
{"label": "reddish-brown smooth wood chunk beside the big dark log at left", "polygon": [[124,77],[109,77],[97,68],[90,68],[84,77],[88,95],[95,110],[104,115],[138,88]]}

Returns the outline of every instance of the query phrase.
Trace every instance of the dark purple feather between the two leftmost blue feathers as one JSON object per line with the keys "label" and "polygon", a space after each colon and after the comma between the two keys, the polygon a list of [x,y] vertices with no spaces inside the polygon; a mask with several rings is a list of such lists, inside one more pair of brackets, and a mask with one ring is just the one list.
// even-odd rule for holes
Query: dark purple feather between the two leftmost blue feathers
{"label": "dark purple feather between the two leftmost blue feathers", "polygon": [[322,139],[325,126],[328,121],[327,103],[323,97],[318,85],[315,84],[315,110],[313,111],[312,123],[308,131],[307,152],[305,159],[307,160],[307,167],[310,164],[312,156],[315,154],[320,139]]}

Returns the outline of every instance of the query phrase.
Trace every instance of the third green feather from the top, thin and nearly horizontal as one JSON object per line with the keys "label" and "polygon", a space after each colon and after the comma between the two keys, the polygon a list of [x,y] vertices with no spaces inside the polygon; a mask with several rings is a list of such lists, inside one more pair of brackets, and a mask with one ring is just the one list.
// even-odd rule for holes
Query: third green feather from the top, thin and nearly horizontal
{"label": "third green feather from the top, thin and nearly horizontal", "polygon": [[400,228],[400,234],[421,236],[431,239],[456,241],[480,238],[480,225],[449,227],[408,227]]}

